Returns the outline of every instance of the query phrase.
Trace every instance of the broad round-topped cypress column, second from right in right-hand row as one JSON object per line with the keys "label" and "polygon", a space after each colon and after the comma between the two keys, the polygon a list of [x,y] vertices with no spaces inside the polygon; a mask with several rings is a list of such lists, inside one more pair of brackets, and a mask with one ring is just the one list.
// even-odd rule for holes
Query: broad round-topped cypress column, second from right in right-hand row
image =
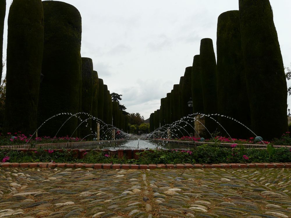
{"label": "broad round-topped cypress column, second from right in right-hand row", "polygon": [[[216,43],[218,113],[235,118],[251,128],[238,10],[219,15]],[[253,136],[247,128],[231,119],[218,117],[218,121],[231,137]],[[219,131],[226,135],[223,128],[220,127]]]}

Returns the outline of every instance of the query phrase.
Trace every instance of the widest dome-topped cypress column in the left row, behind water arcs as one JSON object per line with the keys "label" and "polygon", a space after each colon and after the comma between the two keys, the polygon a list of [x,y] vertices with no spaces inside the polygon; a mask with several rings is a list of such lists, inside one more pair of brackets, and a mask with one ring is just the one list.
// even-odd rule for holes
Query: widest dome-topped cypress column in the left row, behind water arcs
{"label": "widest dome-topped cypress column in the left row, behind water arcs", "polygon": [[[43,1],[44,50],[38,103],[38,125],[61,112],[79,112],[81,96],[81,15],[74,6],[60,1]],[[68,116],[58,116],[39,135],[54,136]],[[58,133],[72,135],[77,119],[71,118]],[[73,136],[76,136],[76,132]]]}

